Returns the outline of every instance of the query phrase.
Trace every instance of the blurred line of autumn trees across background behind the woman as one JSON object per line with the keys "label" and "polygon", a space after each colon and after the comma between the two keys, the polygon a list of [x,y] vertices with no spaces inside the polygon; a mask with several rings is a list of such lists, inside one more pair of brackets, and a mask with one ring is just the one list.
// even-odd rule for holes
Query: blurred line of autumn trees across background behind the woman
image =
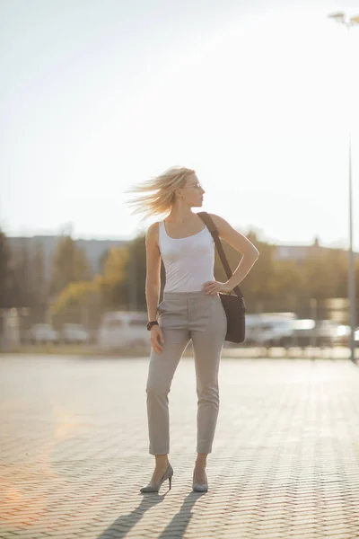
{"label": "blurred line of autumn trees across background behind the woman", "polygon": [[[276,258],[277,247],[259,239],[258,234],[246,234],[256,245],[260,256],[249,275],[242,281],[241,290],[248,312],[293,311],[310,316],[310,299],[325,305],[329,298],[347,297],[347,252],[340,249],[321,249],[313,245],[302,260]],[[103,257],[101,275],[92,277],[90,265],[82,249],[70,236],[57,243],[52,260],[50,290],[55,300],[58,320],[68,321],[69,311],[76,320],[83,320],[83,310],[92,316],[102,309],[145,310],[145,243],[144,234],[132,242],[111,248]],[[241,253],[223,242],[231,269],[241,261]],[[355,261],[356,294],[359,296],[359,260]],[[165,272],[162,264],[163,290]],[[215,251],[215,278],[227,279],[222,262]],[[44,256],[40,244],[33,249],[23,242],[16,250],[0,231],[0,307],[40,307],[47,304],[44,277]],[[67,311],[66,311],[67,310]],[[320,316],[325,316],[324,307]],[[93,319],[96,318],[93,315]]]}

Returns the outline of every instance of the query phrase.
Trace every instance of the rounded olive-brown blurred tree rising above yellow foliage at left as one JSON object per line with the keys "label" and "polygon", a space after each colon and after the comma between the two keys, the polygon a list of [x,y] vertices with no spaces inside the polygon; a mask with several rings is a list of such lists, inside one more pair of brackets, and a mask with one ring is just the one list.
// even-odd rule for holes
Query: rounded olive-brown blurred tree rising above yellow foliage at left
{"label": "rounded olive-brown blurred tree rising above yellow foliage at left", "polygon": [[92,270],[86,254],[69,235],[62,236],[52,259],[50,294],[57,296],[70,283],[90,280]]}

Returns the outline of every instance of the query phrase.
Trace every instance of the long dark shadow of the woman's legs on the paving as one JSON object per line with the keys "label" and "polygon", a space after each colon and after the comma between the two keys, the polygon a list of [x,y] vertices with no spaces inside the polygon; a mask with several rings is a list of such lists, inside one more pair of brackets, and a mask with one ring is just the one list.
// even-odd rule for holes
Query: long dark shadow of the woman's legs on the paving
{"label": "long dark shadow of the woman's legs on the paving", "polygon": [[[157,535],[156,530],[151,530],[153,539],[168,539],[168,537],[183,537],[186,532],[189,521],[192,517],[192,508],[195,505],[198,498],[204,494],[191,492],[187,498],[183,500],[182,506],[179,512],[172,517],[171,522],[164,528],[161,534]],[[166,495],[160,496],[159,494],[152,492],[151,494],[144,495],[140,505],[128,513],[127,515],[121,515],[113,524],[111,524],[106,530],[104,530],[98,539],[122,539],[126,537],[128,532],[138,524],[141,518],[144,516],[144,512],[153,508],[158,503],[164,501]],[[157,518],[154,522],[157,521]],[[153,523],[153,526],[156,526]]]}

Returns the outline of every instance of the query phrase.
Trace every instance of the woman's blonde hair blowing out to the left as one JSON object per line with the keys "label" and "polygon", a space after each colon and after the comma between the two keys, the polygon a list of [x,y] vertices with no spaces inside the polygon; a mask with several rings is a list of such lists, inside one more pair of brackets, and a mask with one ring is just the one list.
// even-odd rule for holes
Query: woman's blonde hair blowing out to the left
{"label": "woman's blonde hair blowing out to the left", "polygon": [[150,216],[168,215],[175,201],[175,190],[184,187],[186,178],[194,172],[184,166],[172,166],[151,180],[133,185],[125,191],[138,195],[127,201],[135,207],[132,214],[144,214],[141,222]]}

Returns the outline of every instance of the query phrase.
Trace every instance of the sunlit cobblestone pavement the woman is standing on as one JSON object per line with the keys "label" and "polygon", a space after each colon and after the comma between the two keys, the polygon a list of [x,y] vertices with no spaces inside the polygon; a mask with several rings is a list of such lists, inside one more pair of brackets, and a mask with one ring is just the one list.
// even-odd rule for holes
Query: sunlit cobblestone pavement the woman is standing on
{"label": "sunlit cobblestone pavement the woman is standing on", "polygon": [[170,394],[172,489],[153,471],[147,358],[0,357],[0,537],[359,537],[359,369],[223,358],[209,491],[191,491],[195,370]]}

